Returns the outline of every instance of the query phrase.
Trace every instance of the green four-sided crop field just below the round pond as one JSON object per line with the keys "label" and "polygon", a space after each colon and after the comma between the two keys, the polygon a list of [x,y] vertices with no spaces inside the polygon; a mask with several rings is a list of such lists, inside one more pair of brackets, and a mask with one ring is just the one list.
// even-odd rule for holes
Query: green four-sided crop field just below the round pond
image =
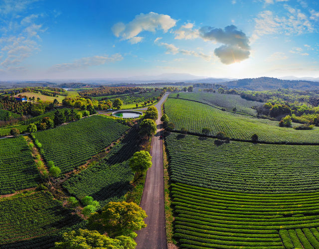
{"label": "green four-sided crop field just below the round pond", "polygon": [[95,115],[38,131],[34,133],[34,138],[42,144],[45,160],[52,160],[62,173],[66,173],[101,152],[128,128],[111,118]]}

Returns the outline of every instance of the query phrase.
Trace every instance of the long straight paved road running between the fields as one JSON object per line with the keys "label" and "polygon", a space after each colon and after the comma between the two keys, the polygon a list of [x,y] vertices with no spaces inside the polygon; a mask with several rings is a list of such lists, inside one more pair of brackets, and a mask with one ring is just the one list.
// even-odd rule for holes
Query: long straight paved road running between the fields
{"label": "long straight paved road running between the fields", "polygon": [[148,217],[144,220],[148,225],[137,232],[135,239],[137,249],[167,249],[164,211],[164,170],[163,170],[163,145],[161,135],[161,108],[168,94],[155,105],[159,111],[157,133],[152,138],[151,155],[152,167],[148,170],[145,180],[141,208],[146,211]]}

